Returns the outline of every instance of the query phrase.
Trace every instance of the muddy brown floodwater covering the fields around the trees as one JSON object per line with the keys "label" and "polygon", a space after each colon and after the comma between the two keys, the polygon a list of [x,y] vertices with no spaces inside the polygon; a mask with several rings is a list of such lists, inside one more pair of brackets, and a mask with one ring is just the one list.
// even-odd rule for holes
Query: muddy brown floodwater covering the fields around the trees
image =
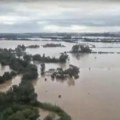
{"label": "muddy brown floodwater covering the fields around the trees", "polygon": [[[0,48],[15,48],[19,44],[40,45],[40,48],[27,49],[29,54],[46,54],[58,57],[61,52],[70,51],[75,43],[60,42],[66,47],[43,48],[48,41],[0,41]],[[50,42],[51,43],[51,42]],[[91,44],[91,43],[87,43]],[[120,52],[118,43],[92,43],[94,51]],[[120,120],[120,54],[69,54],[67,64],[46,64],[50,68],[67,68],[69,64],[80,68],[80,78],[52,80],[50,76],[39,76],[34,81],[38,100],[56,104],[71,115],[72,120]],[[40,65],[38,72],[40,74]],[[9,67],[0,66],[0,75],[9,71]],[[13,84],[20,83],[21,76],[0,85],[0,91],[6,91]],[[47,78],[47,81],[45,81]],[[61,98],[59,98],[61,95]]]}

